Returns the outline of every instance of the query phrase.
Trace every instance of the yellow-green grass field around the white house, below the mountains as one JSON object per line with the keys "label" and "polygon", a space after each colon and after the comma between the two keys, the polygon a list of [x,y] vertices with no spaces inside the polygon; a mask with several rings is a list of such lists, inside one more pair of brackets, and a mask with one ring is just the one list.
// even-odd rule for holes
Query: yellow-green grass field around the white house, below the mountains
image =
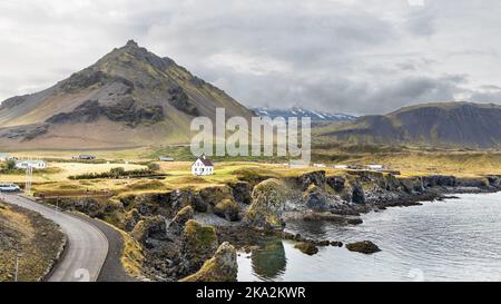
{"label": "yellow-green grass field around the white house, below the mountains", "polygon": [[[289,168],[283,158],[213,158],[215,175],[194,177],[190,165],[195,160],[189,147],[146,147],[125,150],[96,150],[86,154],[96,155],[98,160],[75,161],[71,156],[79,151],[68,150],[30,150],[11,151],[19,158],[48,159],[47,170],[33,173],[35,192],[81,192],[107,190],[117,193],[161,192],[180,187],[207,187],[222,185],[237,178],[242,169],[254,170],[269,176],[297,175],[315,167]],[[338,170],[334,165],[381,164],[391,170],[401,171],[402,176],[454,175],[458,177],[475,177],[483,175],[501,175],[501,151],[441,150],[432,148],[385,147],[385,146],[342,146],[324,145],[313,147],[313,163],[322,163],[328,174]],[[159,156],[171,156],[173,163],[160,163]],[[168,175],[164,179],[82,179],[70,180],[69,176],[106,173],[111,168],[122,167],[126,170],[145,169],[148,163],[159,165],[159,174]],[[23,184],[24,173],[1,174],[0,182]]]}

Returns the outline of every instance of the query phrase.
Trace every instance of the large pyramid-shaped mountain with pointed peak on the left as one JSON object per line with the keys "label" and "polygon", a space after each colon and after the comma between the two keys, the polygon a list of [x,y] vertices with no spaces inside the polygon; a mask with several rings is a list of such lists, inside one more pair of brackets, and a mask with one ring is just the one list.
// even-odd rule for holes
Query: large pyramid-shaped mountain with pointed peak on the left
{"label": "large pyramid-shaped mountain with pointed peak on the left", "polygon": [[223,90],[130,40],[43,91],[0,104],[0,147],[111,148],[189,143],[194,117],[250,118]]}

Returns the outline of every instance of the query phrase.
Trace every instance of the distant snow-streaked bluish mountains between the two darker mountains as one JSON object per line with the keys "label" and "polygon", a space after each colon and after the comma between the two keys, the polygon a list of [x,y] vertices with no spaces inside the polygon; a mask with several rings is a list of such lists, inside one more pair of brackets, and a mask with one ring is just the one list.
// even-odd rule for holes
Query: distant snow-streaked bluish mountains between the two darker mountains
{"label": "distant snow-streaked bluish mountains between the two darker mountains", "polygon": [[276,117],[311,117],[312,121],[353,121],[356,119],[355,116],[346,115],[346,114],[334,114],[327,111],[314,111],[303,108],[288,108],[288,109],[272,109],[272,108],[254,108],[254,112],[258,116],[276,118]]}

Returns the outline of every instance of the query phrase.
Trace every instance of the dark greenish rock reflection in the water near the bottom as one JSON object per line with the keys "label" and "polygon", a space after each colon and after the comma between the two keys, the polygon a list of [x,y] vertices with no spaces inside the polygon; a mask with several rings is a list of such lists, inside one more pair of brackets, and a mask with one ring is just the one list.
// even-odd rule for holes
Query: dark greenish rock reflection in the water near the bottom
{"label": "dark greenish rock reflection in the water near the bottom", "polygon": [[254,249],[250,259],[254,274],[264,281],[284,274],[287,266],[284,244],[278,238],[271,238]]}

